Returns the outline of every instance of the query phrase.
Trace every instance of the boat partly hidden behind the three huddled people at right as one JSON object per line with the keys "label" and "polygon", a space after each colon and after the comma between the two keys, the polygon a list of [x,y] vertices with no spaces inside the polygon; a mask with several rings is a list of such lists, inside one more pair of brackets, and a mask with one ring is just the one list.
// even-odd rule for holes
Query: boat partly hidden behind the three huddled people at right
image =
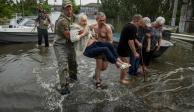
{"label": "boat partly hidden behind the three huddled people at right", "polygon": [[[114,33],[113,34],[113,44],[114,44],[115,48],[118,45],[119,38],[120,38],[119,33]],[[170,42],[169,40],[162,39],[160,49],[158,51],[154,52],[153,58],[160,57],[168,48],[170,48],[172,46],[173,46],[172,42]]]}

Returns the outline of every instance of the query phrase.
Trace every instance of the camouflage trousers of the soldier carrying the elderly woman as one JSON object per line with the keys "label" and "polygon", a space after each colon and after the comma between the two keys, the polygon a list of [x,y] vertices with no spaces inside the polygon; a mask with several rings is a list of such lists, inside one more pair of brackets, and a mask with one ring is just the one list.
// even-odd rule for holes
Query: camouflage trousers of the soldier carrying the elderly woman
{"label": "camouflage trousers of the soldier carrying the elderly woman", "polygon": [[58,74],[61,86],[67,85],[70,79],[77,80],[77,62],[73,43],[54,43],[58,61]]}

